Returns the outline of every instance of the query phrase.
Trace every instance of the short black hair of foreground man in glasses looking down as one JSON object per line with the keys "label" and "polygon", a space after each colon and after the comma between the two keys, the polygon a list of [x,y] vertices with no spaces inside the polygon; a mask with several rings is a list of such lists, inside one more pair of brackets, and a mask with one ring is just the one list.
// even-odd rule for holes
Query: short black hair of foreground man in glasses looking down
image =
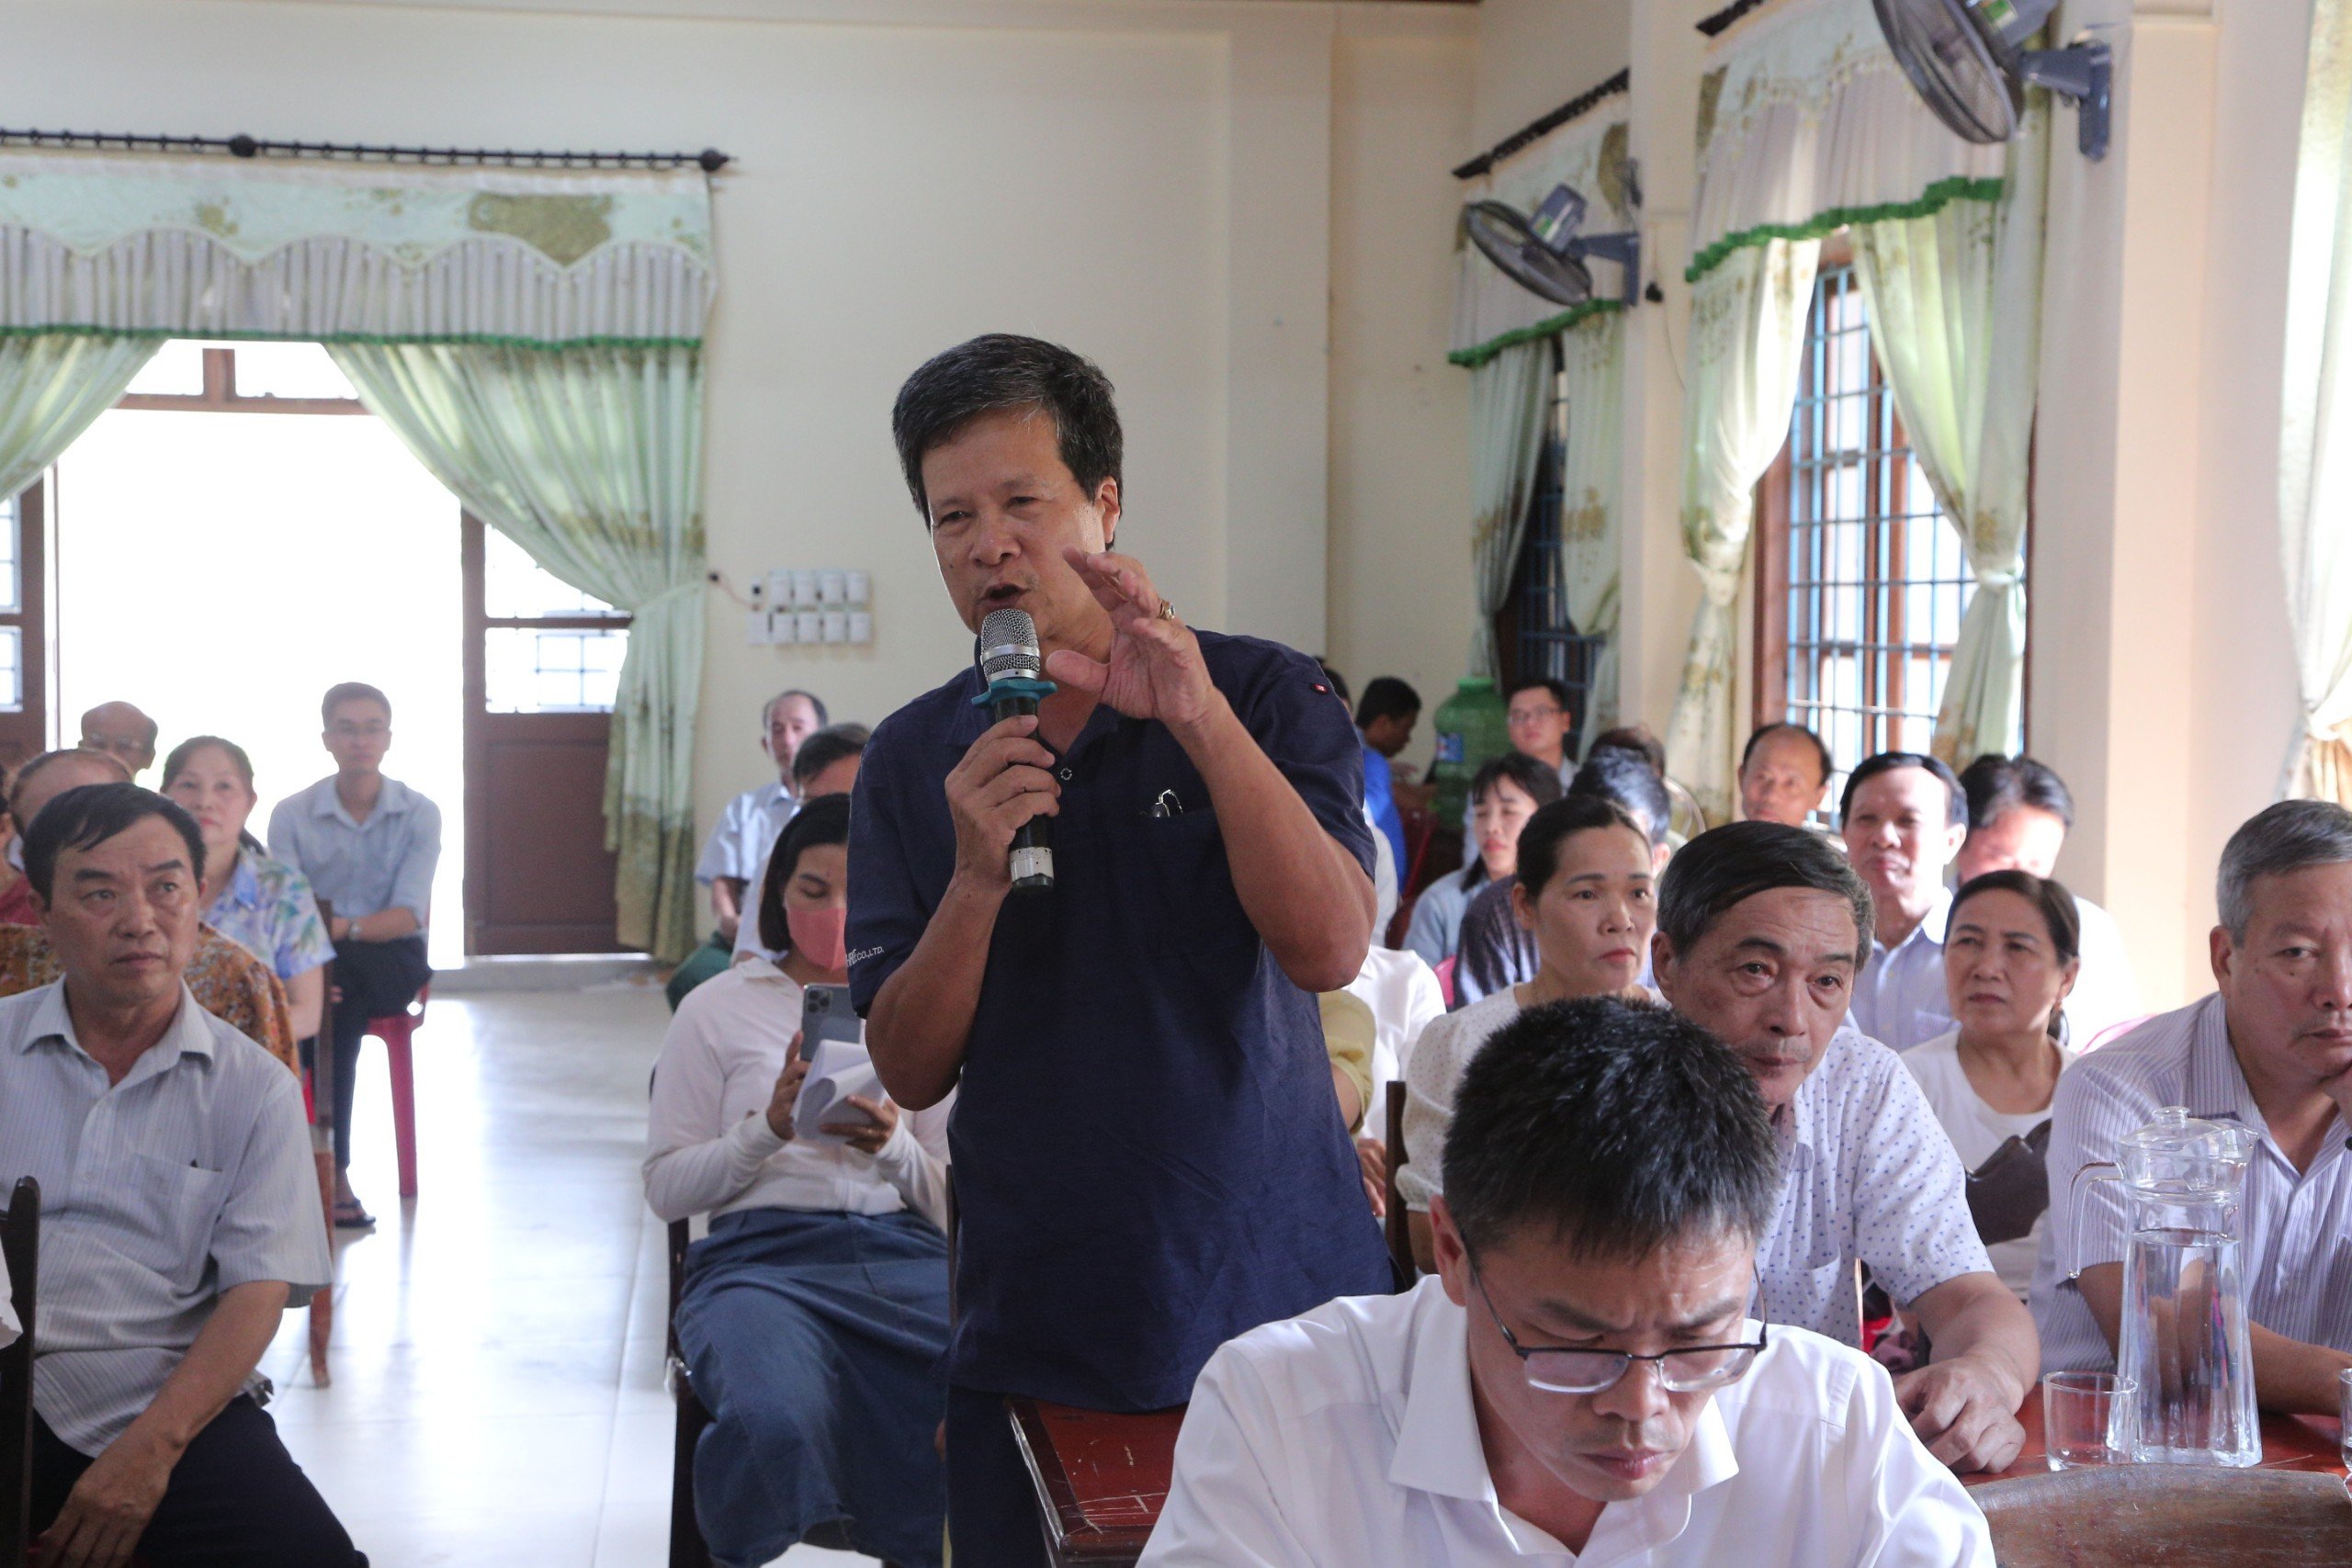
{"label": "short black hair of foreground man in glasses looking down", "polygon": [[1477,1255],[1543,1227],[1576,1258],[1764,1234],[1780,1150],[1755,1074],[1646,1001],[1581,997],[1496,1030],[1454,1091],[1444,1201]]}

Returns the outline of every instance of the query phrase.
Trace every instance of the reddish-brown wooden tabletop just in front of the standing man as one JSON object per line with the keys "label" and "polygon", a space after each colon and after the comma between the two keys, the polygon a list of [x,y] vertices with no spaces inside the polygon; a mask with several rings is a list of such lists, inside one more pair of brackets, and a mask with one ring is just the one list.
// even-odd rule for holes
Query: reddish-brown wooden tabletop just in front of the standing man
{"label": "reddish-brown wooden tabletop just in front of the standing man", "polygon": [[1110,1415],[1007,1399],[1054,1568],[1134,1563],[1160,1523],[1183,1406]]}

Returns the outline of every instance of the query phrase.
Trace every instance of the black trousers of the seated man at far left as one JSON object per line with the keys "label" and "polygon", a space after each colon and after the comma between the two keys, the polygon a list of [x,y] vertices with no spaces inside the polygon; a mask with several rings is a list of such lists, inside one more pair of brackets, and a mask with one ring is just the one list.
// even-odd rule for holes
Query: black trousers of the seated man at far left
{"label": "black trousers of the seated man at far left", "polygon": [[[33,1533],[47,1530],[92,1460],[33,1418]],[[139,1537],[151,1568],[367,1568],[334,1509],[252,1399],[230,1399],[172,1467]]]}

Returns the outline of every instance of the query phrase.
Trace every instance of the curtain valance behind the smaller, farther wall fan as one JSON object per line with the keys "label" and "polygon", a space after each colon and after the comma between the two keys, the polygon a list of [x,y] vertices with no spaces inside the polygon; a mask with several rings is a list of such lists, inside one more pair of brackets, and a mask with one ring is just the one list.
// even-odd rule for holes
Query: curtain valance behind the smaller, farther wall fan
{"label": "curtain valance behind the smaller, farther wall fan", "polygon": [[[1552,186],[1569,183],[1592,202],[1585,214],[1588,233],[1632,228],[1635,214],[1628,200],[1623,167],[1628,153],[1628,129],[1623,113],[1609,113],[1621,103],[1595,108],[1569,125],[1562,125],[1543,141],[1515,153],[1501,167],[1463,190],[1463,202],[1496,200],[1534,212]],[[1562,308],[1548,299],[1529,294],[1479,254],[1470,237],[1454,230],[1454,336],[1451,360],[1456,364],[1484,364],[1515,343],[1534,343],[1576,322],[1606,310],[1621,310],[1618,299],[1588,299],[1581,306]],[[1604,268],[1611,270],[1611,268]]]}

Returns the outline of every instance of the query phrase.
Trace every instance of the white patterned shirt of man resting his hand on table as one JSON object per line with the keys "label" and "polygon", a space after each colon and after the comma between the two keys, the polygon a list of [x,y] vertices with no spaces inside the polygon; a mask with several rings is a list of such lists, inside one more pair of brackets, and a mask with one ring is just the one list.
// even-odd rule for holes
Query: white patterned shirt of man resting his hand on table
{"label": "white patterned shirt of man resting his hand on table", "polygon": [[1992,1272],[1959,1154],[1903,1058],[1879,1041],[1842,1027],[1773,1128],[1780,1206],[1757,1248],[1773,1324],[1860,1345],[1856,1260],[1898,1305]]}

